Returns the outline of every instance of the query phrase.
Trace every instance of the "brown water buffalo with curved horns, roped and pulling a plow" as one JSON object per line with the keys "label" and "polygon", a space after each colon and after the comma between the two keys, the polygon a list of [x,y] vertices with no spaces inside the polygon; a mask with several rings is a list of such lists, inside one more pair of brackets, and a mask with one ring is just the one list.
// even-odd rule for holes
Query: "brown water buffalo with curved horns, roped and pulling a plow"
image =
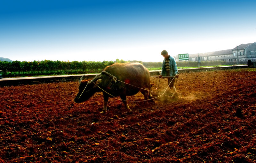
{"label": "brown water buffalo with curved horns, roped and pulling a plow", "polygon": [[92,80],[83,80],[83,78],[84,76],[80,79],[79,93],[76,95],[75,102],[84,102],[94,93],[103,92],[104,106],[100,113],[107,111],[109,97],[120,96],[128,110],[130,107],[127,104],[126,96],[135,95],[140,91],[145,100],[152,99],[149,71],[140,63],[114,63]]}

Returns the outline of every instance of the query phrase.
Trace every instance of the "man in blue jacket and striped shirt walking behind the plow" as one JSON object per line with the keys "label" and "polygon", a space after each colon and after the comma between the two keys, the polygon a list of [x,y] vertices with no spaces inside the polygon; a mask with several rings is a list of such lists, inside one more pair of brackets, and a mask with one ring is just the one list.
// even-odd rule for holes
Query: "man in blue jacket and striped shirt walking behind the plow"
{"label": "man in blue jacket and striped shirt walking behind the plow", "polygon": [[[175,92],[175,86],[174,86],[174,82],[175,82],[175,78],[174,76],[176,75],[176,78],[179,78],[179,72],[178,72],[178,68],[177,68],[177,64],[175,59],[172,56],[168,55],[168,52],[166,50],[163,50],[161,52],[161,55],[164,57],[164,61],[162,64],[162,71],[161,71],[161,75],[159,75],[159,78],[164,78],[164,77],[168,77],[168,85],[171,88],[171,93]],[[172,80],[173,79],[173,80]]]}

